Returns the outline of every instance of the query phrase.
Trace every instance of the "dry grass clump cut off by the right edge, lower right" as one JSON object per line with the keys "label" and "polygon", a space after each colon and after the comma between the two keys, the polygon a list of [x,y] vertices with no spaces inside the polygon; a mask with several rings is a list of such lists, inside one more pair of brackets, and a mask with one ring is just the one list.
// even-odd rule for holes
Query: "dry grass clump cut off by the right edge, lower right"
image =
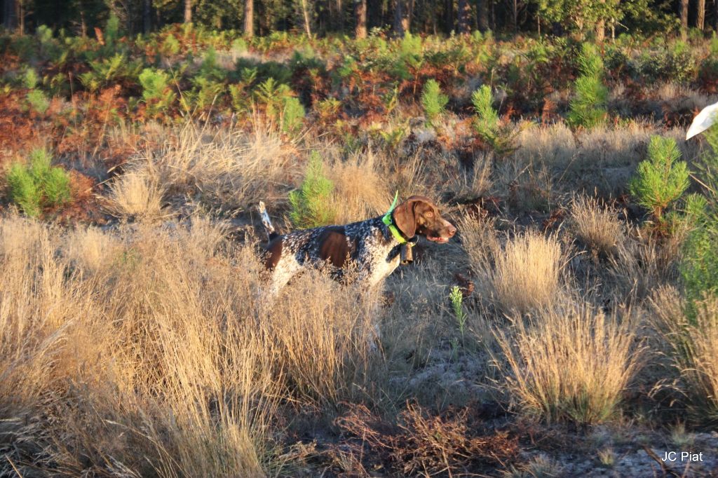
{"label": "dry grass clump cut off by the right edge, lower right", "polygon": [[718,298],[707,296],[687,317],[686,304],[673,288],[659,289],[651,299],[654,326],[668,344],[681,376],[687,408],[694,423],[718,423]]}

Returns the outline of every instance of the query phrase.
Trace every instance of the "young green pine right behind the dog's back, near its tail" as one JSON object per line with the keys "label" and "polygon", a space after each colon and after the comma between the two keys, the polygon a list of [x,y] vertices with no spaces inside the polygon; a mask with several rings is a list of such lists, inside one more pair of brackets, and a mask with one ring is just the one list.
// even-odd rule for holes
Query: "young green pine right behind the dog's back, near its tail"
{"label": "young green pine right behind the dog's back, near its tail", "polygon": [[322,158],[317,151],[309,156],[302,186],[289,193],[289,218],[298,228],[316,228],[332,224],[337,211],[332,207],[334,184],[324,175]]}

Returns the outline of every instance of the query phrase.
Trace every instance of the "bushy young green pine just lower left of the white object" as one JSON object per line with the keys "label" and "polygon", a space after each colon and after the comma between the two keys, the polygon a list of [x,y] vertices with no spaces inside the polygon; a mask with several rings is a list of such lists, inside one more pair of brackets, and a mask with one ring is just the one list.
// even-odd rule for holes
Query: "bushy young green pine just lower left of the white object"
{"label": "bushy young green pine just lower left of the white object", "polygon": [[672,138],[653,136],[648,144],[648,159],[638,164],[637,175],[630,181],[630,192],[638,204],[651,211],[659,225],[665,225],[664,212],[679,200],[689,186],[685,161]]}

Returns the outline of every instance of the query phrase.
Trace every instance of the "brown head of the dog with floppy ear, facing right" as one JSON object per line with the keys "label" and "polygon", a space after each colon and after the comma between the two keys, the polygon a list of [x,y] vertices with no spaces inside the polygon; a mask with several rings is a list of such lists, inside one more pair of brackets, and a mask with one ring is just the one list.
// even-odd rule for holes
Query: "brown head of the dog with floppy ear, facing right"
{"label": "brown head of the dog with floppy ear, facing right", "polygon": [[396,227],[407,238],[423,235],[435,243],[448,243],[456,228],[439,213],[439,208],[424,196],[411,196],[396,206],[393,212]]}

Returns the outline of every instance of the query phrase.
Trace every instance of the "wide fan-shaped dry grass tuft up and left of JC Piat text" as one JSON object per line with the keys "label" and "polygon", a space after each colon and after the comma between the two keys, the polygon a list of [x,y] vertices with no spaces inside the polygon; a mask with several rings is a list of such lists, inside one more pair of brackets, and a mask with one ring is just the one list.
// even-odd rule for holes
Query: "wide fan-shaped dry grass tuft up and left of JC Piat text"
{"label": "wide fan-shaped dry grass tuft up and left of JC Piat text", "polygon": [[521,413],[553,423],[601,423],[614,417],[624,390],[642,365],[635,325],[572,304],[513,317],[495,330],[503,357],[495,360]]}

